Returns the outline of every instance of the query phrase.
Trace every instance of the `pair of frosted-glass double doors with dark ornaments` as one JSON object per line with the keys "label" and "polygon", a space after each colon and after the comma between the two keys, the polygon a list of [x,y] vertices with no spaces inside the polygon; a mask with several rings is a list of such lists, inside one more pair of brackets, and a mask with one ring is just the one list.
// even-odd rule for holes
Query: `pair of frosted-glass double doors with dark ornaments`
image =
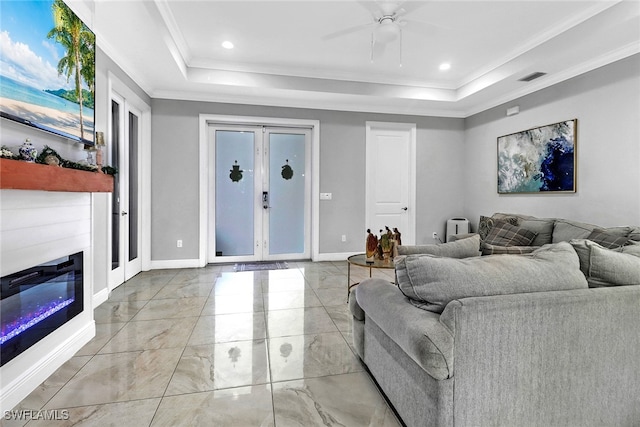
{"label": "pair of frosted-glass double doors with dark ornaments", "polygon": [[310,258],[311,131],[211,125],[208,262]]}

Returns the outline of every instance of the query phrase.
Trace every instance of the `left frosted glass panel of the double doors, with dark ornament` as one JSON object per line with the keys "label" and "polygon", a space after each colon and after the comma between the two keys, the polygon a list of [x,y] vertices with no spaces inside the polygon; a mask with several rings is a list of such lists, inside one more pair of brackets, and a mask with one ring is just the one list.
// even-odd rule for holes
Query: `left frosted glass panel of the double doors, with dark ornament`
{"label": "left frosted glass panel of the double doors, with dark ornament", "polygon": [[254,254],[254,135],[216,131],[216,256]]}

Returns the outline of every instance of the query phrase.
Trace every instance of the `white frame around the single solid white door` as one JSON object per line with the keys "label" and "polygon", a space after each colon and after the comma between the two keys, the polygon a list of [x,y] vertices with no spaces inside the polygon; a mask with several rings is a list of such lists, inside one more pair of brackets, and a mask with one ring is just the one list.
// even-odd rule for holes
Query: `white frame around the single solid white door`
{"label": "white frame around the single solid white door", "polygon": [[[416,238],[416,124],[415,123],[394,123],[394,122],[366,122],[366,164],[365,164],[365,218],[369,221],[371,217],[371,204],[373,198],[373,191],[370,188],[370,183],[373,182],[372,175],[372,158],[371,148],[373,144],[373,132],[377,129],[383,131],[403,131],[409,132],[409,164],[406,165],[407,172],[409,174],[409,188],[408,188],[408,200],[409,206],[407,210],[409,230],[400,230],[402,232],[402,243],[405,245],[415,244]],[[395,173],[402,170],[402,166],[393,165]]]}

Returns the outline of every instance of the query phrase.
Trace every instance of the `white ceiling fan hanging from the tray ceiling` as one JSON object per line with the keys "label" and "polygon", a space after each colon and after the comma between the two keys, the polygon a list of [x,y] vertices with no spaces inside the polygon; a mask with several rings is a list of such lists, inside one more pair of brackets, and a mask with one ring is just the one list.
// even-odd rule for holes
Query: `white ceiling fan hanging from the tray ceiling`
{"label": "white ceiling fan hanging from the tray ceiling", "polygon": [[344,30],[327,34],[322,39],[326,41],[326,40],[331,40],[338,37],[343,37],[348,34],[356,33],[359,31],[371,30],[371,61],[372,62],[374,58],[374,53],[376,57],[382,55],[386,45],[399,39],[400,40],[400,66],[402,66],[402,29],[406,27],[407,29],[411,29],[412,31],[413,30],[420,31],[420,30],[424,30],[426,26],[433,25],[433,24],[426,24],[422,22],[409,21],[404,18],[405,15],[407,15],[408,13],[411,13],[415,9],[423,6],[425,2],[359,1],[358,3],[371,13],[373,21],[367,24],[356,25],[353,27],[345,28]]}

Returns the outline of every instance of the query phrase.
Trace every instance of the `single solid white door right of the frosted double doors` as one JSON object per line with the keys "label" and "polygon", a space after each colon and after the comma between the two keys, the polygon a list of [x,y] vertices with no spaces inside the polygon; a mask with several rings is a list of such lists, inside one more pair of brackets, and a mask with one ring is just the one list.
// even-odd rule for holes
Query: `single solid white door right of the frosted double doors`
{"label": "single solid white door right of the frosted double doors", "polygon": [[367,122],[366,227],[379,235],[398,228],[402,244],[415,244],[416,126]]}

